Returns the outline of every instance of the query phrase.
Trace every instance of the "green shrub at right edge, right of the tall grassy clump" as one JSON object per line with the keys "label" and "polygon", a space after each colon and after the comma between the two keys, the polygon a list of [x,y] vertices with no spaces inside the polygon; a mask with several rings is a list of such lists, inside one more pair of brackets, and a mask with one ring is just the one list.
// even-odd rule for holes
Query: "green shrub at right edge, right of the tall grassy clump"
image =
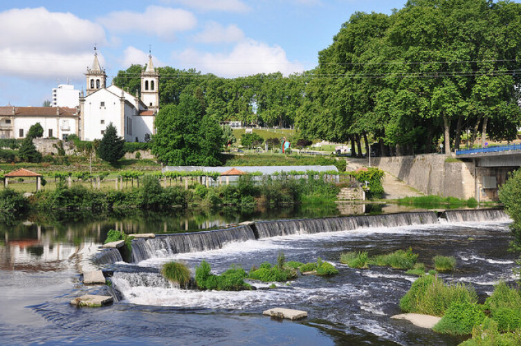
{"label": "green shrub at right edge, right of the tall grassy clump", "polygon": [[485,301],[485,308],[497,322],[500,331],[513,331],[521,328],[521,295],[516,289],[500,282]]}

